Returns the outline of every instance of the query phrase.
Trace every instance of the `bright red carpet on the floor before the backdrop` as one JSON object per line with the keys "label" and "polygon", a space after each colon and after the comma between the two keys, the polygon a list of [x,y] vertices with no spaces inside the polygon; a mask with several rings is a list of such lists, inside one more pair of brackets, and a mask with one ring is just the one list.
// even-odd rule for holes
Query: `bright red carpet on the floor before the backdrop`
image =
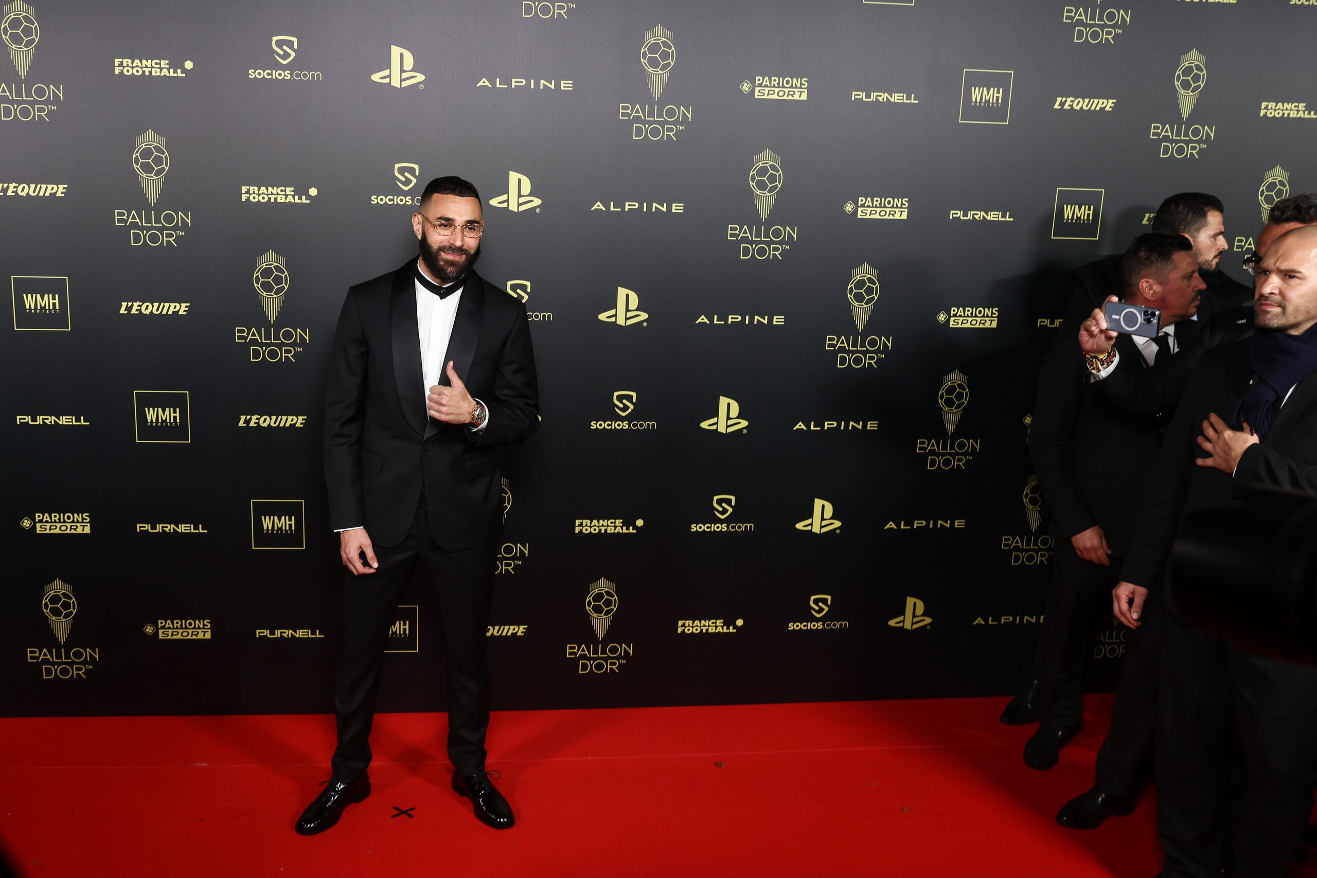
{"label": "bright red carpet on the floor before the backdrop", "polygon": [[1094,832],[1052,819],[1092,783],[1110,696],[1046,773],[1004,703],[495,713],[506,832],[449,790],[443,715],[382,715],[373,795],[309,839],[332,717],[9,719],[0,839],[25,877],[1152,875],[1151,794]]}

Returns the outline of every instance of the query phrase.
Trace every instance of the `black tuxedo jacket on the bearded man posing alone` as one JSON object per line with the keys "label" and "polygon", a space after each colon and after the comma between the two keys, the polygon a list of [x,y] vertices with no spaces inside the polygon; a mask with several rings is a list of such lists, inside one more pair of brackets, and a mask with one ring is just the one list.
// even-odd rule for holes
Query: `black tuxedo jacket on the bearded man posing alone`
{"label": "black tuxedo jacket on the bearded man posing alone", "polygon": [[[325,382],[325,482],[329,524],[363,525],[373,542],[407,536],[420,492],[435,542],[445,552],[498,541],[502,491],[495,446],[525,441],[539,426],[539,383],[525,305],[466,275],[444,363],[489,408],[474,433],[429,416],[416,325],[415,271],[348,290]],[[449,383],[446,373],[440,384]]]}

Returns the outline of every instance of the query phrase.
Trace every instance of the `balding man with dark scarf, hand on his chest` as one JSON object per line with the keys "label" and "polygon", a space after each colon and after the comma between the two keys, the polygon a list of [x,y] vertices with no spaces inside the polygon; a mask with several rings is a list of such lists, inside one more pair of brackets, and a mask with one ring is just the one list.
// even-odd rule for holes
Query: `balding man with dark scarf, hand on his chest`
{"label": "balding man with dark scarf, hand on his chest", "polygon": [[[1255,334],[1202,358],[1167,428],[1112,592],[1113,612],[1130,628],[1142,624],[1146,600],[1163,600],[1159,586],[1181,516],[1254,486],[1317,494],[1317,226],[1276,238],[1252,271]],[[1216,877],[1233,864],[1238,875],[1279,878],[1317,786],[1317,669],[1227,645],[1185,623],[1172,602],[1166,609],[1156,723],[1160,874]],[[1231,763],[1241,750],[1246,785],[1227,829]]]}

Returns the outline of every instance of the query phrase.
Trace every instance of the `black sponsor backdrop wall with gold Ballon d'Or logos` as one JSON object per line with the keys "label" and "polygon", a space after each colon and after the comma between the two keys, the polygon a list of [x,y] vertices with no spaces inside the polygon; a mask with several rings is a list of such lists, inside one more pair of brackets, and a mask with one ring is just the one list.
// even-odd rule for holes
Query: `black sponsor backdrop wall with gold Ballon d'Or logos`
{"label": "black sponsor backdrop wall with gold Ballon d'Or logos", "polygon": [[[1006,692],[1069,550],[1025,446],[1065,271],[1205,190],[1242,278],[1317,186],[1306,0],[13,0],[0,32],[12,715],[331,708],[335,319],[444,174],[543,390],[497,708]],[[441,708],[424,588],[390,644],[382,707]]]}

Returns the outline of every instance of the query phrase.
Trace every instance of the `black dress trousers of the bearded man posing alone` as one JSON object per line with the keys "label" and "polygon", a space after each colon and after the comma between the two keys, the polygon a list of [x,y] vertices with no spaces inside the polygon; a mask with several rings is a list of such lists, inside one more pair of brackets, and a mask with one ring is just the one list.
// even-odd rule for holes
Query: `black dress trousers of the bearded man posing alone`
{"label": "black dress trousers of the bearded man posing alone", "polygon": [[489,728],[489,628],[497,546],[444,552],[431,536],[421,494],[411,530],[400,545],[375,546],[379,567],[354,577],[344,567],[342,653],[335,681],[338,746],[333,777],[353,781],[370,765],[379,666],[398,602],[417,562],[424,562],[439,603],[448,677],[448,758],[460,774],[485,771]]}

